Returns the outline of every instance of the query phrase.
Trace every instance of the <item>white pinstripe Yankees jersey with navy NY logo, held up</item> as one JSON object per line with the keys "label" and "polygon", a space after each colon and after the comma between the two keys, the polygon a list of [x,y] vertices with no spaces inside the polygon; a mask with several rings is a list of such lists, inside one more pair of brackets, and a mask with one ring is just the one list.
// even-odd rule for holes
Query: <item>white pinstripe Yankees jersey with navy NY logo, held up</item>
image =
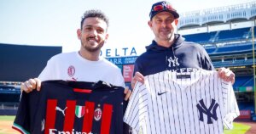
{"label": "white pinstripe Yankees jersey with navy NY logo, held up", "polygon": [[166,70],[137,82],[124,121],[144,134],[216,134],[238,115],[232,85],[217,71]]}

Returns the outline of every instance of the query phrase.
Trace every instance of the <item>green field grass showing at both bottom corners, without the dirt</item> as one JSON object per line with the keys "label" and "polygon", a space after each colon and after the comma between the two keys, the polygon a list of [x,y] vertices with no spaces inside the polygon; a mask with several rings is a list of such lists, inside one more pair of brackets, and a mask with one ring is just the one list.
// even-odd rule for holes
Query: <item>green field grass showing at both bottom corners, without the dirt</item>
{"label": "green field grass showing at both bottom corners, without the dirt", "polygon": [[[13,121],[15,120],[15,116],[0,116],[0,121],[9,120]],[[234,123],[234,129],[232,130],[224,130],[224,134],[244,134],[248,129],[250,129],[251,126],[243,125],[241,123]],[[11,126],[9,127],[11,129]],[[6,134],[2,133],[0,129],[0,134]],[[14,133],[9,133],[14,134]]]}

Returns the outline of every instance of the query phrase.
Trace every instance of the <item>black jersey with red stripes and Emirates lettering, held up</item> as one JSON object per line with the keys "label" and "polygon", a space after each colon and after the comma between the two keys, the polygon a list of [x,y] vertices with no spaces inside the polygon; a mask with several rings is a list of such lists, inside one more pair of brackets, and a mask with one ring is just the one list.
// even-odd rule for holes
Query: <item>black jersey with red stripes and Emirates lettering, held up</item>
{"label": "black jersey with red stripes and Emirates lettering, held up", "polygon": [[13,128],[21,133],[123,133],[124,87],[99,81],[44,81],[23,92]]}

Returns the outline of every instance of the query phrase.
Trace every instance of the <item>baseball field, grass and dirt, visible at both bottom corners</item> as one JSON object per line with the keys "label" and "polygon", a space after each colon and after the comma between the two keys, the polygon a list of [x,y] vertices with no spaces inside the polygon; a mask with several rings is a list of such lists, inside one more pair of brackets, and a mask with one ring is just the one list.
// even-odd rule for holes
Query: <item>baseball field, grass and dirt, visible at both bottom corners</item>
{"label": "baseball field, grass and dirt, visible at both bottom corners", "polygon": [[[0,116],[0,134],[19,134],[18,131],[11,128],[14,120],[15,116]],[[234,129],[225,130],[224,134],[245,134],[251,129],[251,127],[252,126],[247,125],[247,123],[236,122],[234,123]],[[256,131],[253,132],[256,133]]]}

